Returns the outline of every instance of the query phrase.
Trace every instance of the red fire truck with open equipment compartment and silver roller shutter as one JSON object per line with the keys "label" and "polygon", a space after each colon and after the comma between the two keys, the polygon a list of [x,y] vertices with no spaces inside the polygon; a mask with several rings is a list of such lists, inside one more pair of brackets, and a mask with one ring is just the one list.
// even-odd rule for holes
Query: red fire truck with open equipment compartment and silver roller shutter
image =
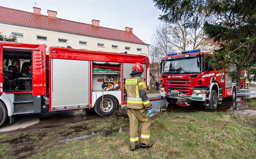
{"label": "red fire truck with open equipment compartment and silver roller shutter", "polygon": [[149,67],[144,55],[60,47],[46,55],[45,44],[4,41],[0,47],[0,126],[25,113],[93,108],[112,115],[127,104],[123,85],[133,65],[143,65],[143,78]]}

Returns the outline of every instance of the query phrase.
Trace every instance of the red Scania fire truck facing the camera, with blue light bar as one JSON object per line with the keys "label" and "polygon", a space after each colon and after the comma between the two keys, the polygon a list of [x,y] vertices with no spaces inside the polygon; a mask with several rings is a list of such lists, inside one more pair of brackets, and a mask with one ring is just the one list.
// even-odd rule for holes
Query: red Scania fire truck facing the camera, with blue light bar
{"label": "red Scania fire truck facing the camera, with blue light bar", "polygon": [[[178,99],[187,100],[189,105],[201,101],[206,109],[216,109],[219,98],[235,100],[239,81],[228,77],[225,70],[211,67],[205,61],[206,54],[198,49],[162,58],[160,94],[168,103],[175,104]],[[236,67],[227,71],[236,71]]]}

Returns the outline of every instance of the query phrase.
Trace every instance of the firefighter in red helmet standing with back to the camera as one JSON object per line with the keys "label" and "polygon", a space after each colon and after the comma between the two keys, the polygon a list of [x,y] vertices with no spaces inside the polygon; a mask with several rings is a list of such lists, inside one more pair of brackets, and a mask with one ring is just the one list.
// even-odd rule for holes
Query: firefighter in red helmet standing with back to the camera
{"label": "firefighter in red helmet standing with back to the camera", "polygon": [[[134,151],[140,147],[152,147],[150,142],[150,114],[152,106],[146,92],[146,83],[141,74],[144,69],[140,63],[134,64],[130,77],[125,80],[127,91],[127,108],[130,120],[130,147]],[[139,121],[141,123],[141,135],[139,143]]]}

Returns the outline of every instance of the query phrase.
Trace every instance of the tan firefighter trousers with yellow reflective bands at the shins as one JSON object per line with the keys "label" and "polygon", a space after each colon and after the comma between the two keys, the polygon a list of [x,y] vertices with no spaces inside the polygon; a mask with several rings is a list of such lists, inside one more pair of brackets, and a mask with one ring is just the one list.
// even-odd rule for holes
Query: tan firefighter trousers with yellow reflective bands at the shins
{"label": "tan firefighter trousers with yellow reflective bands at the shins", "polygon": [[[139,121],[141,123],[140,141],[142,146],[148,146],[150,141],[150,116],[146,116],[148,111],[144,108],[141,110],[128,109],[130,120],[130,145],[135,149],[135,144],[139,143]],[[137,142],[136,142],[137,141]]]}

